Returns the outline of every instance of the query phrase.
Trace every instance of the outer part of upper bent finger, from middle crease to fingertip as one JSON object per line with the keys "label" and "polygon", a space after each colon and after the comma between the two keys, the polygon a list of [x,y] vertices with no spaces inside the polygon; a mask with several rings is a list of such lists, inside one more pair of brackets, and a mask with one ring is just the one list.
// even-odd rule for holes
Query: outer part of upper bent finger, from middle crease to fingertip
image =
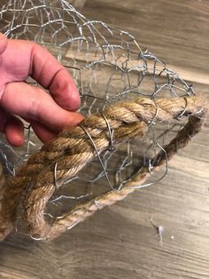
{"label": "outer part of upper bent finger, from middle crease to fingertip", "polygon": [[38,44],[34,44],[32,49],[31,76],[49,89],[62,108],[77,110],[80,107],[80,96],[73,78],[50,52]]}

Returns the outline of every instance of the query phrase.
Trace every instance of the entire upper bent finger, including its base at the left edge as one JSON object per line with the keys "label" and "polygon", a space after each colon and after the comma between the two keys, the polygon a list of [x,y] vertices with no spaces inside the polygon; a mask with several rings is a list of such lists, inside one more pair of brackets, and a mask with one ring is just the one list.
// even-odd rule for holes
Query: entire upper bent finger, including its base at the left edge
{"label": "entire upper bent finger, including its base at the left edge", "polygon": [[[24,40],[11,40],[2,36],[5,73],[1,83],[25,81],[32,76],[38,84],[49,90],[58,105],[68,110],[80,106],[80,97],[71,75],[58,60],[41,45]],[[2,51],[3,51],[2,50]]]}

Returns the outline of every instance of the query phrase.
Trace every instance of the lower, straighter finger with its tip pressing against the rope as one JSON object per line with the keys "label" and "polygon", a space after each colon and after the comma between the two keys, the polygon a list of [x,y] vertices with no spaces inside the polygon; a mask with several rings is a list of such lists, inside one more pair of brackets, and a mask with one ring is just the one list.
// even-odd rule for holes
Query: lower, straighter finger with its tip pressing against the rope
{"label": "lower, straighter finger with its tip pressing against the rope", "polygon": [[13,115],[35,120],[54,132],[83,119],[81,114],[59,107],[41,88],[21,82],[6,84],[1,106]]}

